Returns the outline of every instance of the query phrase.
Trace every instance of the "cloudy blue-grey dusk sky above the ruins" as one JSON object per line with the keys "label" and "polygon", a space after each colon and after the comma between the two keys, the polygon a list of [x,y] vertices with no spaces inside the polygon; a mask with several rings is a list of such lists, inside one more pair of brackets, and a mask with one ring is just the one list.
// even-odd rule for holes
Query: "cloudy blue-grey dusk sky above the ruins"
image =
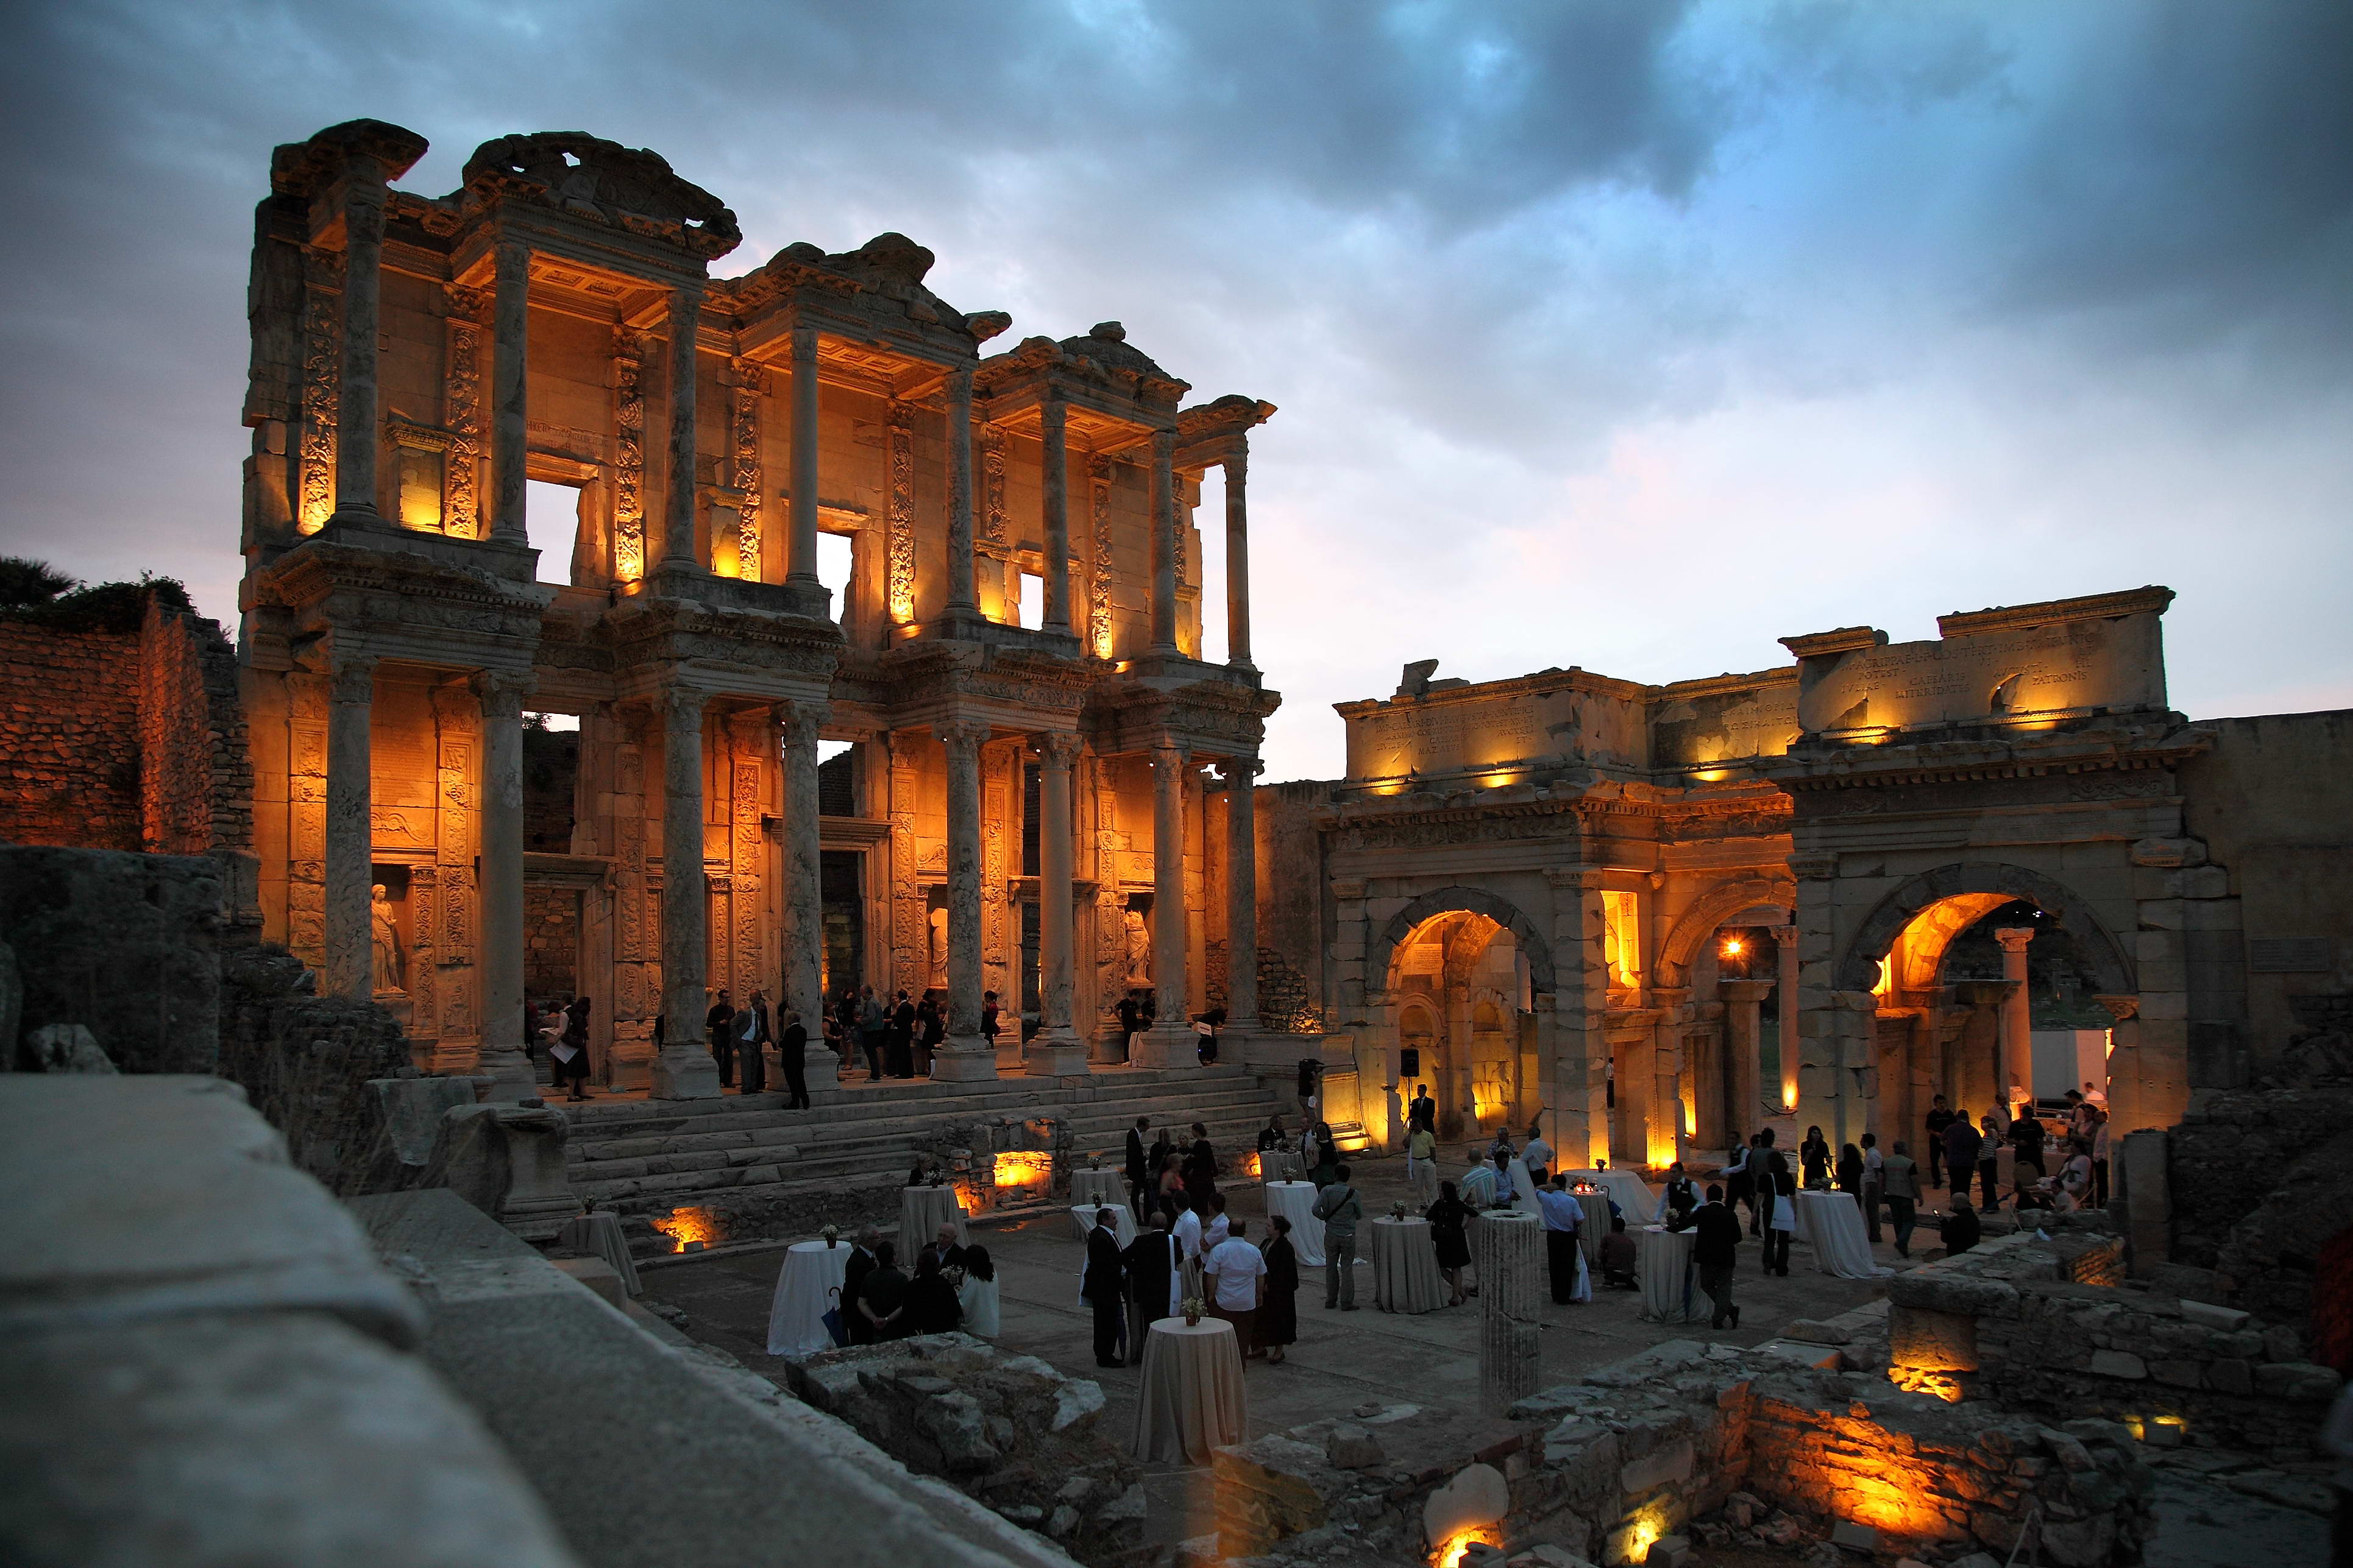
{"label": "cloudy blue-grey dusk sky above the ruins", "polygon": [[[896,228],[1120,317],[1252,463],[1268,778],[1398,665],[2169,583],[2174,705],[2353,705],[2353,7],[402,0],[12,7],[0,552],[235,611],[268,150],[664,153],[720,273]],[[1012,341],[1012,339],[1007,339]],[[1212,512],[1214,515],[1214,512]]]}

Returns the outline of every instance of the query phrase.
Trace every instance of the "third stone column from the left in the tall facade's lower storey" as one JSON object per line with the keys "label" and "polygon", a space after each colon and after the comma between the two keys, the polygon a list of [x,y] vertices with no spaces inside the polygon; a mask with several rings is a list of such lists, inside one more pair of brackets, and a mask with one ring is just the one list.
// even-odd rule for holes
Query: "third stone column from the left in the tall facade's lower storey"
{"label": "third stone column from the left in the tall facade's lower storey", "polygon": [[652,1098],[713,1100],[720,1067],[704,1039],[704,966],[711,957],[704,877],[704,693],[661,693],[661,1053]]}

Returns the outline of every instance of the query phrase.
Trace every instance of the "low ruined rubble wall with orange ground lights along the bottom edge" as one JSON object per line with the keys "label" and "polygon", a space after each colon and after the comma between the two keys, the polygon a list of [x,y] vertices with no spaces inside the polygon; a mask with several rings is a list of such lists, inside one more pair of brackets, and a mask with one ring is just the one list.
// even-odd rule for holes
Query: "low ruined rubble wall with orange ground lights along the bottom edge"
{"label": "low ruined rubble wall with orange ground lights along the bottom edge", "polygon": [[[1835,1366],[1838,1352],[1821,1361]],[[1407,1406],[1405,1418],[1419,1420]],[[1800,1547],[1948,1561],[2007,1554],[2028,1519],[2045,1563],[2137,1561],[2151,1476],[2113,1422],[2066,1429],[1951,1406],[1786,1345],[1668,1340],[1518,1401],[1449,1462],[1388,1462],[1412,1432],[1329,1422],[1217,1455],[1219,1535],[1254,1563],[1433,1561],[1464,1540],[1621,1568],[1661,1542]],[[1372,1436],[1369,1453],[1353,1455]],[[1668,1549],[1668,1556],[1675,1556]]]}

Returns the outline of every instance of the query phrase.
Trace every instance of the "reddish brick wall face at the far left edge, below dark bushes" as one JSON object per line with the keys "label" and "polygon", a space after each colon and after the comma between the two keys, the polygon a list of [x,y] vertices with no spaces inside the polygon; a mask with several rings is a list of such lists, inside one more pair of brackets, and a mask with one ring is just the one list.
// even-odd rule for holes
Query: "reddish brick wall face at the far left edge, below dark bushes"
{"label": "reddish brick wall face at the far left edge, below dark bushes", "polygon": [[0,839],[141,849],[139,637],[0,618]]}

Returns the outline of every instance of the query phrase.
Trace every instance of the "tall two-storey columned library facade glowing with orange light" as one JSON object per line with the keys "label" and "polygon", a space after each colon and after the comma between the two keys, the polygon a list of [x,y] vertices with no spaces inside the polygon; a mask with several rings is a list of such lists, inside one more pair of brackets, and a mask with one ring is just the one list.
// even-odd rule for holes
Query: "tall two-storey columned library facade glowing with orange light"
{"label": "tall two-storey columned library facade glowing with orange light", "polygon": [[[932,990],[934,1077],[967,1081],[1115,1060],[1127,997],[1158,1016],[1139,1065],[1191,1063],[1212,1006],[1247,1034],[1278,696],[1245,470],[1273,407],[1186,404],[1118,322],[991,353],[1007,317],[932,294],[901,235],[713,277],[734,214],[652,153],[508,136],[447,197],[393,190],[424,150],[320,132],[256,214],[240,656],[268,936],[504,1095],[529,1093],[525,910],[551,903],[595,1079],[656,1095],[718,1093],[720,987],[798,1009],[812,1051],[821,997]],[[567,559],[527,543],[532,484],[576,496]],[[849,541],[838,602],[824,536]],[[536,849],[527,715],[579,722]],[[824,780],[821,741],[849,743]]]}

